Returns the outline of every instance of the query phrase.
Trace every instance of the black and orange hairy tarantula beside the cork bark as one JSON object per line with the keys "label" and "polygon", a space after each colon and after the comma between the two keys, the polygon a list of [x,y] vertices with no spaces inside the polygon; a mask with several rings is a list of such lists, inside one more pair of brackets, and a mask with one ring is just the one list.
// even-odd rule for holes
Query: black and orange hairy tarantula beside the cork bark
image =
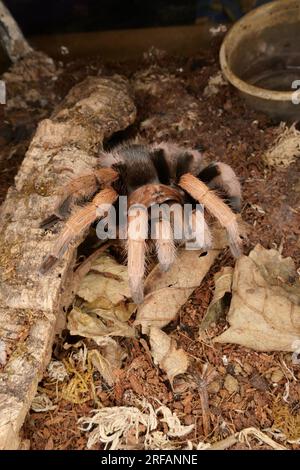
{"label": "black and orange hairy tarantula beside the cork bark", "polygon": [[[226,202],[213,189],[221,190]],[[138,236],[132,236],[136,215],[131,213],[131,208],[136,204],[150,208],[154,203],[200,202],[226,228],[232,254],[240,255],[242,238],[235,212],[241,207],[241,187],[232,168],[221,162],[207,164],[199,151],[171,143],[131,144],[103,152],[98,168],[70,181],[60,190],[60,202],[42,227],[47,229],[58,219],[66,222],[52,252],[41,266],[41,273],[46,273],[62,258],[73,239],[82,235],[94,221],[105,217],[108,207],[116,205],[120,195],[128,197],[128,275],[136,303],[143,301],[148,232],[146,212],[139,219],[141,230]],[[85,205],[76,207],[82,202]],[[203,224],[202,245],[207,249],[211,245],[211,234],[207,223],[203,221]],[[167,270],[175,257],[173,228],[167,219],[155,221],[155,247],[162,270]]]}

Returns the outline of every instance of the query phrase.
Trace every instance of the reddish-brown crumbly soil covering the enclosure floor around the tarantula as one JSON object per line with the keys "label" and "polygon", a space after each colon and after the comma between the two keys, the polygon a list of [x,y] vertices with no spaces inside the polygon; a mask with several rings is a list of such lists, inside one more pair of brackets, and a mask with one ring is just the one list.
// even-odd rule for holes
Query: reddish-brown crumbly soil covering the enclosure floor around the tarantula
{"label": "reddish-brown crumbly soil covering the enclosure floor around the tarantula", "polygon": [[[138,63],[103,63],[97,57],[65,62],[51,90],[56,98],[52,95],[49,109],[41,112],[37,105],[30,115],[26,109],[0,110],[0,200],[13,184],[38,121],[50,114],[51,107],[86,76],[119,73],[132,83],[138,117],[131,129],[115,136],[106,146],[127,139],[149,143],[173,140],[201,149],[211,160],[229,163],[243,188],[242,218],[248,223],[249,237],[246,252],[261,243],[265,248],[280,249],[284,256],[292,256],[299,266],[300,159],[287,169],[268,168],[263,155],[274,142],[278,125],[247,108],[228,84],[218,85],[215,94],[207,89],[210,78],[219,71],[218,46],[219,41],[214,40],[209,54],[189,58],[169,57],[162,51],[150,50]],[[147,343],[139,339],[121,341],[127,359],[115,387],[109,388],[94,374],[98,399],[103,406],[121,406],[128,404],[129,391],[151,403],[156,397],[176,411],[183,424],[195,424],[191,435],[179,439],[194,444],[213,443],[247,427],[275,432],[281,426],[279,431],[285,438],[278,442],[299,449],[300,366],[292,363],[291,354],[258,353],[240,346],[198,340],[199,323],[212,299],[213,274],[233,263],[230,253],[223,253],[183,306],[178,320],[166,329],[188,353],[192,363],[189,377],[193,381],[203,377],[207,364],[213,371],[214,379],[207,384],[209,434],[203,426],[200,395],[195,387],[189,387],[190,379],[178,379],[172,389],[164,372],[153,364]],[[209,337],[223,331],[226,325],[223,321],[210,328]],[[70,338],[67,340],[70,342]],[[53,356],[59,360],[61,342],[57,341]],[[47,373],[40,390],[55,397],[55,387],[49,385]],[[79,430],[77,421],[94,408],[90,397],[82,404],[59,400],[55,410],[31,411],[23,437],[30,440],[31,449],[84,449],[87,435]],[[297,439],[298,444],[292,443]],[[254,449],[268,448],[256,439],[251,439],[250,445]],[[232,448],[248,446],[239,443]]]}

